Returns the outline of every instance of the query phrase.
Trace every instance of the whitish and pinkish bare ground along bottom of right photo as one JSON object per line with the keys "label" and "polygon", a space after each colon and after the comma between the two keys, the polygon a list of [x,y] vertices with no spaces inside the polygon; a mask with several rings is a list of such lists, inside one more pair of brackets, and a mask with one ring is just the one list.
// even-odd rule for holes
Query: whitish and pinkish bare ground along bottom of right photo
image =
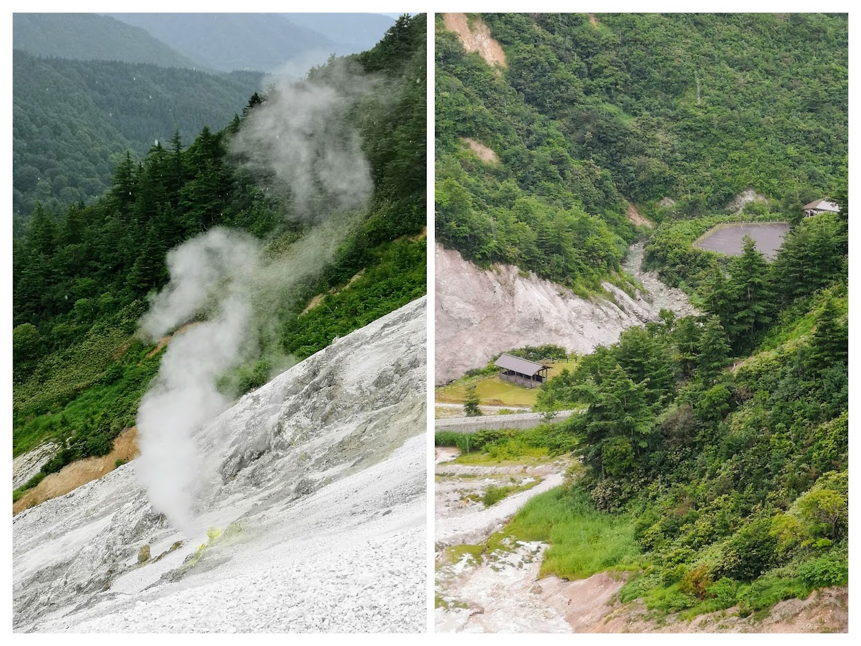
{"label": "whitish and pinkish bare ground along bottom of right photo", "polygon": [[[833,587],[808,599],[778,603],[765,618],[739,616],[737,607],[701,615],[691,621],[671,615],[661,621],[649,616],[640,600],[617,601],[625,575],[601,572],[579,581],[556,576],[539,578],[547,544],[517,541],[493,533],[511,519],[533,488],[491,507],[480,502],[490,486],[542,477],[558,478],[570,460],[523,463],[461,464],[452,461],[459,451],[436,451],[436,611],[437,632],[845,632],[848,629],[848,591]],[[541,490],[544,490],[543,488]],[[534,493],[530,493],[534,492]],[[513,506],[505,507],[506,502]],[[478,522],[493,512],[496,523]],[[450,540],[451,527],[472,529]],[[489,540],[488,540],[489,539]]]}

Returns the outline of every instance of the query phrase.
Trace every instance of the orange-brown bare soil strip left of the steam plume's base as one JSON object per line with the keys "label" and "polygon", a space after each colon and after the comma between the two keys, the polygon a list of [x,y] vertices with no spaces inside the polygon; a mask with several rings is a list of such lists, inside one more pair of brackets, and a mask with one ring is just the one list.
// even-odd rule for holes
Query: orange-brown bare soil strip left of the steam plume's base
{"label": "orange-brown bare soil strip left of the steam plume's base", "polygon": [[86,457],[71,464],[66,464],[59,473],[46,475],[34,488],[22,495],[12,505],[12,515],[22,512],[32,506],[39,505],[46,500],[57,498],[68,494],[83,484],[92,480],[98,480],[116,469],[116,461],[128,462],[138,457],[138,428],[133,426],[121,432],[114,440],[114,448],[107,456]]}

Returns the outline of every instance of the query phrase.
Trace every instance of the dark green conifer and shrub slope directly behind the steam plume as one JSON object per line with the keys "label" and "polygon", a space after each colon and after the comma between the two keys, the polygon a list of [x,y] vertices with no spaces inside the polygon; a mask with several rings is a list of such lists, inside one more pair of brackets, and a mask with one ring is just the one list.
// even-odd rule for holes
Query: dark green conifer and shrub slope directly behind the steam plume
{"label": "dark green conifer and shrub slope directly behind the steam plume", "polygon": [[[375,93],[348,117],[362,137],[373,196],[349,218],[331,262],[280,303],[275,345],[225,380],[228,394],[268,381],[273,357],[307,357],[426,290],[424,16],[400,18],[374,48],[349,58],[377,78]],[[310,75],[325,77],[328,68]],[[161,356],[135,332],[147,295],[167,281],[167,250],[214,226],[253,234],[270,256],[302,244],[305,214],[227,156],[229,140],[267,96],[246,101],[242,117],[222,130],[204,127],[187,147],[176,135],[141,161],[121,158],[111,188],[91,205],[54,214],[37,203],[15,239],[13,452],[46,438],[63,447],[26,487],[79,457],[104,455],[134,424]],[[315,295],[325,307],[303,313]]]}

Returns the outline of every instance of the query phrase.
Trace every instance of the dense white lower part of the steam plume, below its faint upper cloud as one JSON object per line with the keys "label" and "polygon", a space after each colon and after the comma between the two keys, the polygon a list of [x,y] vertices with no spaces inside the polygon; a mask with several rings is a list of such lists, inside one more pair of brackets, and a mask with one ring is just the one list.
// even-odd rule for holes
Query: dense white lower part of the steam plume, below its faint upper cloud
{"label": "dense white lower part of the steam plume, below its faint upper cloud", "polygon": [[251,323],[244,286],[257,270],[257,242],[213,229],[168,254],[170,284],[152,301],[141,330],[158,339],[210,303],[214,314],[177,334],[138,409],[140,457],[135,473],[152,506],[193,532],[192,501],[201,459],[194,433],[229,401],[218,377],[242,356]]}

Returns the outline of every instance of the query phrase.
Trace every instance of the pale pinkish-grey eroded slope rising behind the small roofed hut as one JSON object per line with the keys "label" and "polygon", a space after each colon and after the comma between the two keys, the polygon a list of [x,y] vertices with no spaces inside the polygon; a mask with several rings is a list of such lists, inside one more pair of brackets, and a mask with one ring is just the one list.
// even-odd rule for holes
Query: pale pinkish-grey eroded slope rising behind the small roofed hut
{"label": "pale pinkish-grey eroded slope rising behind the small roofed hut", "polygon": [[[641,260],[641,246],[634,245],[631,251]],[[483,367],[494,354],[512,348],[552,343],[587,353],[598,345],[615,343],[630,326],[657,320],[661,307],[691,314],[691,306],[678,289],[674,290],[678,294],[660,300],[639,292],[631,298],[604,283],[616,302],[586,301],[532,272],[523,276],[511,264],[481,270],[460,252],[439,245],[436,263],[437,384]],[[639,263],[635,274],[645,277]]]}

